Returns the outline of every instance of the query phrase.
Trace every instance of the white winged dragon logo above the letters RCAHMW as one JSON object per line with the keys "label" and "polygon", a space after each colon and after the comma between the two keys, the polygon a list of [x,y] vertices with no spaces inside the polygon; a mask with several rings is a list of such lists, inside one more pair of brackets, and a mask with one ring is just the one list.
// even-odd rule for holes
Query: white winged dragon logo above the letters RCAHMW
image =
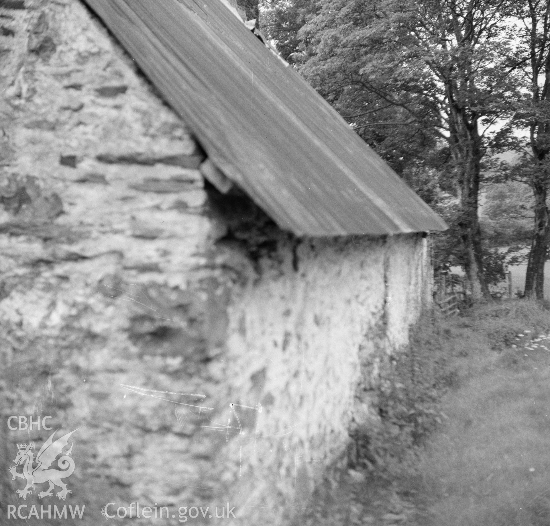
{"label": "white winged dragon logo above the letters RCAHMW", "polygon": [[[34,444],[18,444],[17,457],[13,460],[15,465],[12,465],[8,469],[9,473],[12,474],[12,480],[16,478],[26,479],[27,484],[22,490],[15,490],[17,495],[23,499],[27,498],[27,495],[32,494],[31,487],[34,487],[35,484],[50,483],[47,491],[41,491],[38,493],[38,498],[52,497],[53,490],[56,486],[61,487],[56,495],[57,498],[65,500],[68,493],[72,493],[68,489],[67,484],[63,483],[61,479],[66,479],[68,476],[73,474],[74,471],[74,460],[70,457],[71,452],[73,451],[73,443],[71,442],[70,448],[68,451],[63,451],[65,447],[69,445],[69,437],[78,429],[63,435],[61,438],[53,441],[53,436],[56,434],[57,430],[52,433],[50,438],[44,442],[43,446],[38,451],[36,459],[34,458],[34,453],[31,451],[34,447]],[[56,460],[59,454],[62,454],[62,457],[57,459],[57,465],[60,469],[52,468],[51,465],[53,461]],[[23,464],[23,473],[17,472],[17,466]],[[35,467],[32,467],[33,464],[37,464]]]}

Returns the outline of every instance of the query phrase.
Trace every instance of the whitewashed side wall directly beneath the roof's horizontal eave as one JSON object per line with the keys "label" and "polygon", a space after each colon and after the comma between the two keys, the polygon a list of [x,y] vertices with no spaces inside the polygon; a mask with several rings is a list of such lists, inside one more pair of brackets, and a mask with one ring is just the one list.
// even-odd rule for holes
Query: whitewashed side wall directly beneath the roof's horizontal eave
{"label": "whitewashed side wall directly beneath the roof's horizontal eave", "polygon": [[323,469],[345,461],[349,435],[376,429],[379,367],[406,345],[420,309],[423,245],[421,236],[303,240],[230,305],[228,374],[246,371],[240,399],[262,408],[241,412],[249,424],[229,446],[246,453],[245,504],[279,494],[279,505],[302,505]]}

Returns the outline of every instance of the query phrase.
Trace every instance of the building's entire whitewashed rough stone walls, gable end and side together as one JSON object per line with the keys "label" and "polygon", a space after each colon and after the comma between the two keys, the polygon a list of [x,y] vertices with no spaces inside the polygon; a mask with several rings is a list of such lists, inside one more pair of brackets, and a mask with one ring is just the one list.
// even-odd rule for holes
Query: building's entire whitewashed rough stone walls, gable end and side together
{"label": "building's entire whitewashed rough stone walls, gable end and side together", "polygon": [[[379,365],[429,301],[427,240],[296,239],[220,194],[78,0],[0,1],[0,35],[3,517],[139,501],[178,524],[229,502],[235,523],[287,522],[376,425]],[[16,442],[53,431],[10,415],[78,428],[65,501],[15,494]]]}

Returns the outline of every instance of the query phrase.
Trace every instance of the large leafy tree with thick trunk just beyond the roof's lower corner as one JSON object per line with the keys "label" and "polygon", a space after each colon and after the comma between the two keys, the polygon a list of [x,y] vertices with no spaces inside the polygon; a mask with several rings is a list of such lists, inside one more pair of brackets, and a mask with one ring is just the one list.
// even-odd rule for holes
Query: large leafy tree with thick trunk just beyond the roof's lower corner
{"label": "large leafy tree with thick trunk just beyond the roof's lower corner", "polygon": [[[503,68],[503,6],[324,0],[294,52],[306,78],[378,151],[402,139],[401,152],[438,160],[460,203],[456,224],[474,299],[490,297],[477,217],[487,128],[504,118],[515,96],[513,75]],[[438,155],[422,156],[436,145]]]}

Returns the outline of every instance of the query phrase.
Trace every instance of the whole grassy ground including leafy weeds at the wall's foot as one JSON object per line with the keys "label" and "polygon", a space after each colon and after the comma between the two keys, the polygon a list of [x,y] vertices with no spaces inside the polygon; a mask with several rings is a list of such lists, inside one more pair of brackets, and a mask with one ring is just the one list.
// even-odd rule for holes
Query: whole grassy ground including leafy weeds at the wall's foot
{"label": "whole grassy ground including leafy weeds at the wall's foot", "polygon": [[369,461],[318,489],[300,524],[550,525],[550,311],[423,320],[386,374]]}

